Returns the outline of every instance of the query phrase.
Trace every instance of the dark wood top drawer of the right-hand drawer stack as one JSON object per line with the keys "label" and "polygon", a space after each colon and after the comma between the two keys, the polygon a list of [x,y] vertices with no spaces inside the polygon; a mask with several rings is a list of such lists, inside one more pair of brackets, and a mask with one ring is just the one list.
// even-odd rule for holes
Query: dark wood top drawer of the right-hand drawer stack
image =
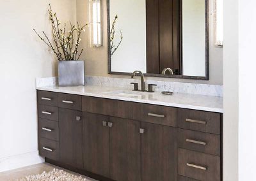
{"label": "dark wood top drawer of the right-hand drawer stack", "polygon": [[178,126],[184,129],[220,134],[221,114],[197,110],[178,110]]}

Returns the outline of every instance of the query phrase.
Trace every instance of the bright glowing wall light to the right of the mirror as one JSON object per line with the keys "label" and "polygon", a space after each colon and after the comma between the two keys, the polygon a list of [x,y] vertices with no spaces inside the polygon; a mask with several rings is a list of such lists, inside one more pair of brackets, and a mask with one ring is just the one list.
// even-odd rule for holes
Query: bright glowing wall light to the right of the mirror
{"label": "bright glowing wall light to the right of the mirror", "polygon": [[216,0],[216,39],[215,45],[223,46],[223,0]]}

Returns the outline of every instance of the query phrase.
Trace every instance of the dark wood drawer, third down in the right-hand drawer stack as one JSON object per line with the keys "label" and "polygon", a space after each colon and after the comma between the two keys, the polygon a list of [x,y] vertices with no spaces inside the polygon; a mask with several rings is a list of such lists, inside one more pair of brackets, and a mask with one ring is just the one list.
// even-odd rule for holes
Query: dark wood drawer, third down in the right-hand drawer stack
{"label": "dark wood drawer, third down in the right-hand drawer stack", "polygon": [[220,157],[179,148],[178,173],[202,181],[221,180]]}

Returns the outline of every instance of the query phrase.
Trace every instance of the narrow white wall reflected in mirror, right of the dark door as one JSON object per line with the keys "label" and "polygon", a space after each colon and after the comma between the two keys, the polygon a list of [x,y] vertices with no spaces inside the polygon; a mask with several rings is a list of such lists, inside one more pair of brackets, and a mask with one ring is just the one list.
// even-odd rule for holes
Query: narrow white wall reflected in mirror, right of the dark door
{"label": "narrow white wall reflected in mirror, right of the dark door", "polygon": [[183,75],[205,76],[205,1],[182,1]]}

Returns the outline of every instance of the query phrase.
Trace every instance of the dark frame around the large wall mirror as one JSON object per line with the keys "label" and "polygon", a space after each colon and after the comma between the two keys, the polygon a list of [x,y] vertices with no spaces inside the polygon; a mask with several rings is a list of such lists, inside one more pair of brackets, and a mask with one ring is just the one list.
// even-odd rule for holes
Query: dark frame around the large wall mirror
{"label": "dark frame around the large wall mirror", "polygon": [[[108,73],[111,75],[132,75],[127,72],[111,71],[111,55],[110,55],[110,12],[108,6]],[[180,30],[182,31],[182,0],[180,1]],[[182,45],[182,34],[180,34],[180,45]],[[182,59],[182,46],[180,46],[180,59]],[[154,73],[144,73],[144,76],[164,77],[164,78],[184,78],[193,80],[209,80],[209,0],[205,0],[205,76],[187,76],[187,75],[161,75]]]}

